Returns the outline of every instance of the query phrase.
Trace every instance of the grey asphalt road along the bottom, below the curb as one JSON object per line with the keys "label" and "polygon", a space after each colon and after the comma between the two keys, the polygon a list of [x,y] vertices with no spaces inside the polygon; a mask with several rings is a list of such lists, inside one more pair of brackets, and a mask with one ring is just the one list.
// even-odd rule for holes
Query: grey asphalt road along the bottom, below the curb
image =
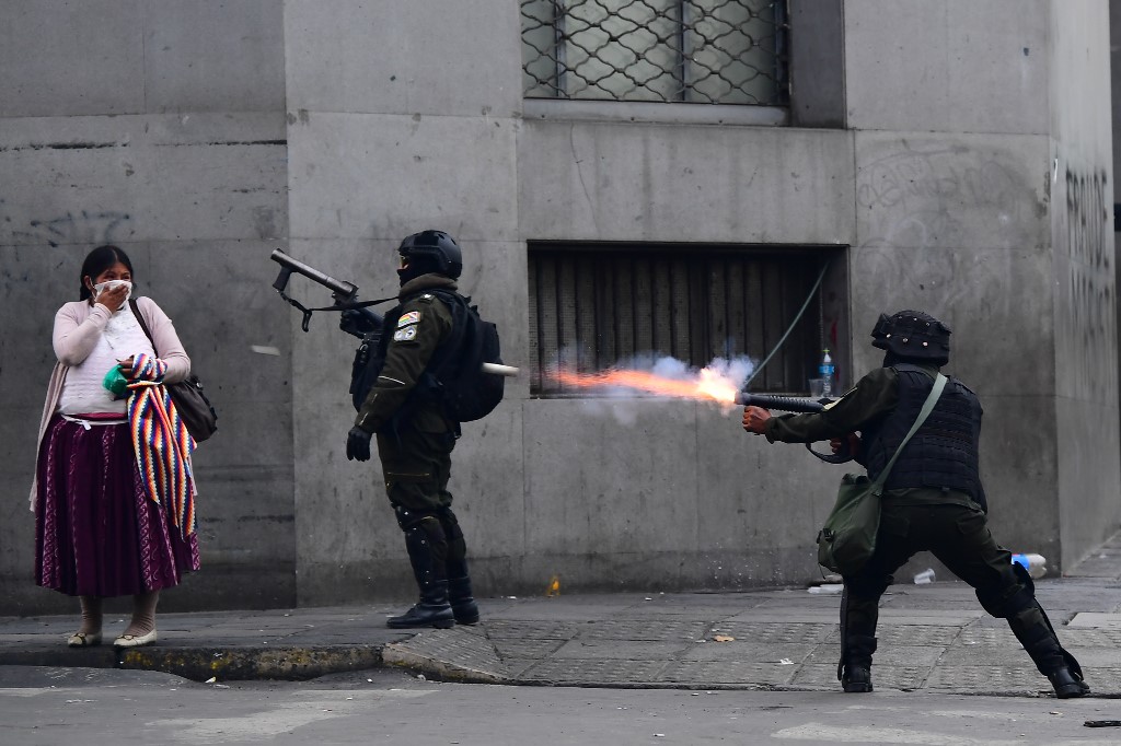
{"label": "grey asphalt road along the bottom, below the curb", "polygon": [[439,683],[385,669],[206,684],[0,666],[0,744],[1118,744],[1114,699]]}

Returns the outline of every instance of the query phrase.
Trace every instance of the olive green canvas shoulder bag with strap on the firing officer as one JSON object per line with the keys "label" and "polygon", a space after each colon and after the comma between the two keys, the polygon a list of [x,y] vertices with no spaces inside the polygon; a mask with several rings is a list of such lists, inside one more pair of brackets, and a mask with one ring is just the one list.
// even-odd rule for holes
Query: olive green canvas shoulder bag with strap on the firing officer
{"label": "olive green canvas shoulder bag with strap on the firing officer", "polygon": [[863,474],[845,474],[837,489],[837,501],[825,519],[825,526],[817,532],[817,563],[842,576],[859,572],[876,551],[876,534],[880,530],[880,495],[883,483],[891,473],[904,446],[934,411],[934,405],[946,385],[946,376],[938,373],[930,394],[923,403],[923,410],[915,425],[900,441],[891,460],[880,472],[876,482]]}

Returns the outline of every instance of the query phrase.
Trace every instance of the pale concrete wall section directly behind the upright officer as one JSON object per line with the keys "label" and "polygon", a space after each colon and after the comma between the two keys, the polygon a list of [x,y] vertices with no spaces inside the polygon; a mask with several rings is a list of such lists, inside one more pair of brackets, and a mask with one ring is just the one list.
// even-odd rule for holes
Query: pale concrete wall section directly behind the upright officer
{"label": "pale concrete wall section directly behind the upright officer", "polygon": [[[352,278],[363,298],[397,289],[396,248],[424,227],[450,231],[466,260],[461,290],[525,358],[526,255],[518,236],[516,142],[521,54],[513,0],[286,3],[291,250]],[[322,289],[309,289],[309,293]],[[295,476],[302,604],[411,593],[400,530],[377,460],[345,458],[354,339],[316,318],[298,332]],[[521,559],[521,401],[465,426],[452,491],[484,574]],[[517,531],[516,533],[513,533]],[[512,537],[512,538],[511,538]],[[482,577],[482,576],[481,576]],[[483,587],[497,589],[495,584]]]}

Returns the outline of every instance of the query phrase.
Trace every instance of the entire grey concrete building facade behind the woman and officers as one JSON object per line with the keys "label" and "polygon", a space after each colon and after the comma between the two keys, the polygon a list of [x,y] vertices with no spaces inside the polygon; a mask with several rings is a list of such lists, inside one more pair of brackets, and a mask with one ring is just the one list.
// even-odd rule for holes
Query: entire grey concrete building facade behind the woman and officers
{"label": "entire grey concrete building facade behind the woman and officers", "polygon": [[[1060,571],[1121,522],[1105,0],[790,0],[790,103],[524,97],[519,3],[35,0],[0,8],[2,613],[31,582],[27,492],[54,311],[111,241],[220,410],[195,458],[204,569],[173,607],[405,597],[374,463],[345,458],[353,338],[309,333],[272,248],[397,287],[423,227],[532,358],[527,246],[817,246],[842,383],[878,315],[953,328],[985,408],[998,539]],[[325,290],[293,292],[328,302]],[[841,468],[697,402],[531,395],[464,426],[451,488],[480,595],[729,589],[817,576]]]}

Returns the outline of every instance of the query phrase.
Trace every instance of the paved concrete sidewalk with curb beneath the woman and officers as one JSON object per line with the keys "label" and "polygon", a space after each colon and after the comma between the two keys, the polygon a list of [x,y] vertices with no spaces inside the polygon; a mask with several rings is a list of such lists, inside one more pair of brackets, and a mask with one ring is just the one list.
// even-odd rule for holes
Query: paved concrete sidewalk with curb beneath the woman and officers
{"label": "paved concrete sidewalk with curb beneath the woman and officers", "polygon": [[[1097,697],[1121,697],[1119,578],[1114,539],[1069,576],[1037,582]],[[392,665],[488,683],[839,690],[839,603],[807,588],[483,598],[479,625],[404,632],[385,626],[399,605],[161,614],[159,642],[122,653],[67,649],[74,617],[7,617],[0,665],[145,669],[219,683]],[[126,624],[111,615],[105,622],[110,640]],[[1050,692],[1007,623],[985,615],[963,582],[890,587],[878,636],[879,689]]]}

